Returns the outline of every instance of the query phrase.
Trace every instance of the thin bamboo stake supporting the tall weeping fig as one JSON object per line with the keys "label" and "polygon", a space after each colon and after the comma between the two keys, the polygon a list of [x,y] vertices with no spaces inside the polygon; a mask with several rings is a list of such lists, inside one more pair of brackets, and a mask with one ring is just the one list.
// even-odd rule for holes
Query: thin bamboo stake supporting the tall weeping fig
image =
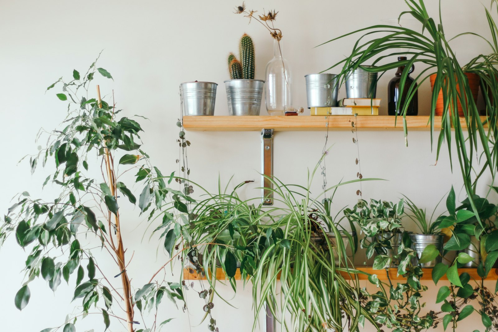
{"label": "thin bamboo stake supporting the tall weeping fig", "polygon": [[[102,99],[100,96],[100,87],[97,85],[97,98],[99,102],[99,107],[102,108]],[[111,168],[111,153],[108,148],[104,148],[105,151],[105,161],[107,168],[107,177],[109,181],[109,189],[111,194],[116,198],[116,177],[114,176],[114,167]],[[118,258],[118,266],[121,272],[121,283],[123,284],[123,297],[124,297],[124,310],[126,311],[126,321],[128,325],[128,332],[134,332],[133,329],[133,302],[131,298],[131,285],[126,272],[126,263],[124,260],[124,246],[123,238],[121,237],[121,227],[120,227],[120,215],[119,212],[115,215],[115,225],[116,225],[116,237],[118,241],[118,247],[115,249],[116,256]],[[109,231],[111,232],[111,218],[109,218]],[[112,235],[111,235],[112,239]]]}

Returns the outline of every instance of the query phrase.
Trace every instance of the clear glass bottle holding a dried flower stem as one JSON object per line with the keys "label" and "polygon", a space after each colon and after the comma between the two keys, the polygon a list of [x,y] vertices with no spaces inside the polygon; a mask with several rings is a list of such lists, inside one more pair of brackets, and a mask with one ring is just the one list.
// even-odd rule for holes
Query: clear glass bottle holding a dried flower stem
{"label": "clear glass bottle holding a dried flower stem", "polygon": [[282,57],[282,41],[273,40],[273,59],[266,65],[265,103],[270,115],[283,115],[292,111],[292,74],[290,66]]}

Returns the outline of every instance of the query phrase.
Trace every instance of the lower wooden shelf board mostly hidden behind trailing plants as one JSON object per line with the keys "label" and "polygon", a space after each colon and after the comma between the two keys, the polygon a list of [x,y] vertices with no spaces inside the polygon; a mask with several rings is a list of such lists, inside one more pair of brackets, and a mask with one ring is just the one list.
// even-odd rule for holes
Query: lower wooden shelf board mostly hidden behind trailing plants
{"label": "lower wooden shelf board mostly hidden behind trailing plants", "polygon": [[[382,281],[387,281],[387,272],[385,270],[374,270],[371,266],[366,266],[366,267],[358,267],[357,268],[359,271],[362,271],[367,274],[376,274],[378,276],[379,280]],[[391,268],[389,269],[389,279],[391,281],[399,281],[399,280],[406,280],[402,276],[396,276],[396,268]],[[424,272],[422,278],[420,280],[432,280],[432,269],[431,268],[423,268],[422,271]],[[476,280],[481,280],[481,277],[477,274],[477,269],[475,268],[462,268],[458,269],[458,274],[461,274],[463,272],[467,272],[471,279],[476,279]],[[368,275],[367,274],[358,274],[358,279],[360,280],[367,280]],[[197,274],[195,271],[194,273],[190,273],[189,269],[184,269],[183,270],[183,277],[185,280],[197,280],[197,279],[206,279],[206,276],[202,277],[199,274]],[[350,278],[350,275],[347,272],[341,272],[341,275],[347,279]],[[279,279],[279,277],[277,277]],[[223,271],[222,268],[217,268],[216,269],[216,279],[219,280],[225,280],[225,272]],[[235,274],[235,279],[240,280],[241,279],[241,271],[237,269],[237,272]],[[441,280],[448,280],[446,278],[446,275],[444,275]],[[490,273],[488,274],[488,277],[486,280],[498,280],[498,269],[492,269]]]}

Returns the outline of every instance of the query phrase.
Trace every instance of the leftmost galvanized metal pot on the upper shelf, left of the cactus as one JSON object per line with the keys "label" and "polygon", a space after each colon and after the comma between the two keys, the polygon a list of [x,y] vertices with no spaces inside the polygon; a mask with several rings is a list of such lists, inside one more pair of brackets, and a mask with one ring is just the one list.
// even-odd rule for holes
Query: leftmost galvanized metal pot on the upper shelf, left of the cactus
{"label": "leftmost galvanized metal pot on the upper shelf, left of the cactus", "polygon": [[217,86],[197,81],[180,84],[183,115],[214,115]]}

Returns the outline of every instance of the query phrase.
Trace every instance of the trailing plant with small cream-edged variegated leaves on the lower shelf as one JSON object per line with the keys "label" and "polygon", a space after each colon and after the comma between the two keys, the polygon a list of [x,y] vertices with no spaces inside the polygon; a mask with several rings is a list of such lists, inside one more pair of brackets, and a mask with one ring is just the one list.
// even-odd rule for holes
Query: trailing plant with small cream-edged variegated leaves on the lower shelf
{"label": "trailing plant with small cream-edged variegated leaves on the lower shelf", "polygon": [[[376,253],[373,269],[387,269],[388,283],[381,282],[377,274],[368,276],[379,288],[376,293],[362,289],[362,304],[373,321],[393,332],[422,331],[433,325],[436,316],[432,311],[422,312],[425,303],[421,298],[427,287],[420,284],[422,269],[412,264],[416,252],[411,248],[408,232],[401,228],[403,209],[403,199],[396,204],[375,200],[369,204],[360,200],[353,209],[346,209],[344,215],[364,233],[361,245],[367,249],[367,258]],[[403,275],[406,282],[396,285],[391,282],[388,272],[391,264],[397,265],[397,274]]]}

